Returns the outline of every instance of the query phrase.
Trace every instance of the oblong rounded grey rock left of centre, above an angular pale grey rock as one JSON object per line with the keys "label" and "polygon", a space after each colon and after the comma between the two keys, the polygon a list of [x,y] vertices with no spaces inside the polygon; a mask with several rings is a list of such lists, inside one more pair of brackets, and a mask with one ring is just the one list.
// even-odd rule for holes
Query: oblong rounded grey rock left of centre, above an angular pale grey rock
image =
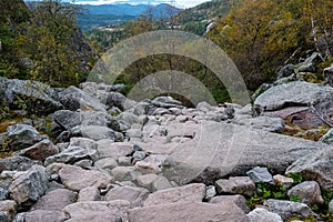
{"label": "oblong rounded grey rock left of centre, above an angular pale grey rock", "polygon": [[109,139],[115,141],[115,133],[112,129],[101,125],[77,125],[70,131],[71,137],[89,138],[94,141]]}

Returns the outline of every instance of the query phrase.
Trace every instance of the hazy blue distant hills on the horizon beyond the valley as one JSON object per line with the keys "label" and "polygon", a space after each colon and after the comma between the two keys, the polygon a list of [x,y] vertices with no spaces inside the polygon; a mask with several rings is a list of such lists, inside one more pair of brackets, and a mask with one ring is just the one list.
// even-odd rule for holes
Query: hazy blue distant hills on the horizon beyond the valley
{"label": "hazy blue distant hills on the horizon beyond the valley", "polygon": [[89,31],[98,27],[119,26],[124,21],[137,19],[148,10],[154,18],[165,18],[168,17],[170,7],[172,11],[176,13],[181,11],[181,9],[167,3],[158,6],[129,3],[101,6],[83,4],[83,13],[79,16],[78,24],[83,31]]}

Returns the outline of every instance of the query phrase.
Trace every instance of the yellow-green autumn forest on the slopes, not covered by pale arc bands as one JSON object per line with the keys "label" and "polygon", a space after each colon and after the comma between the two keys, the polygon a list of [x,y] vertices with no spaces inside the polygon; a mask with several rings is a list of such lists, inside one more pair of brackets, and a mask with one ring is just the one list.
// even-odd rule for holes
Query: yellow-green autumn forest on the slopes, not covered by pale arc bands
{"label": "yellow-green autumn forest on the slopes, not covered by pale arc bands", "polygon": [[[148,10],[112,31],[94,29],[85,37],[77,24],[77,16],[82,10],[75,4],[44,0],[28,8],[20,0],[3,0],[0,11],[0,74],[39,80],[54,87],[84,81],[98,58],[121,40],[165,29],[204,34],[233,59],[252,91],[275,80],[281,67],[297,62],[313,51],[320,52],[325,62],[317,65],[317,75],[311,81],[321,81],[322,68],[332,62],[332,1],[210,1],[181,12],[170,7],[165,9],[168,17],[154,18]],[[213,28],[204,33],[211,22],[214,22]],[[169,69],[201,80],[216,101],[229,99],[208,68],[190,58],[172,54],[137,61],[118,81],[127,83],[127,92],[150,73]]]}

